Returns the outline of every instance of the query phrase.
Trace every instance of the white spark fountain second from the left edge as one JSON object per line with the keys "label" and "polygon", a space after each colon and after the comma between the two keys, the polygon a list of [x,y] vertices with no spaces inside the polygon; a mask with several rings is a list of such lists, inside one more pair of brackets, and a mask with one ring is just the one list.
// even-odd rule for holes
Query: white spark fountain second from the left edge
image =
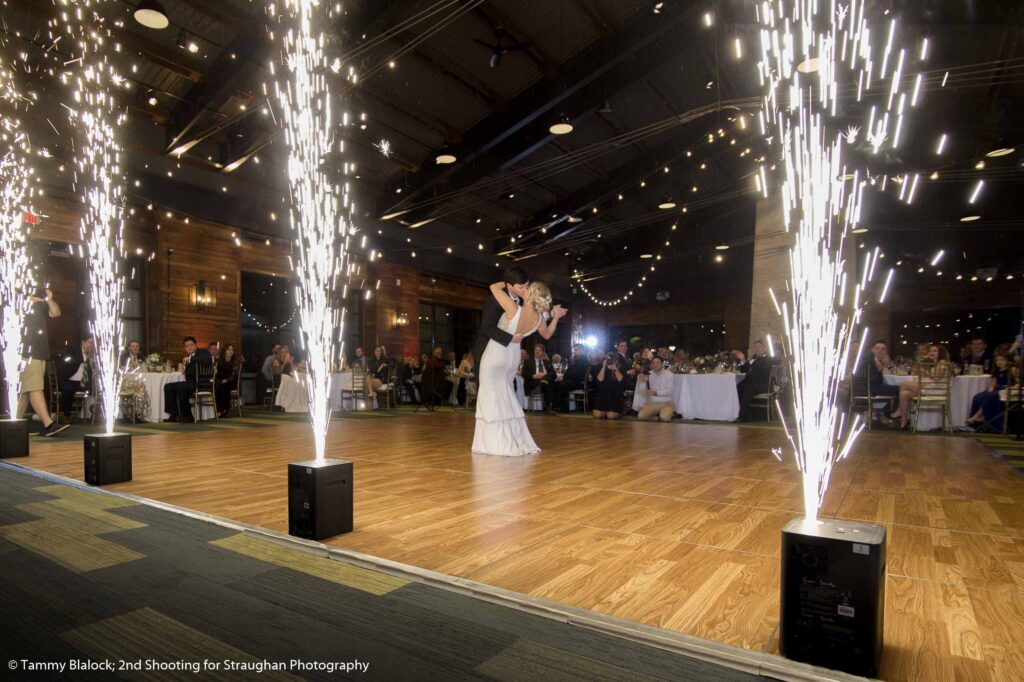
{"label": "white spark fountain second from the left edge", "polygon": [[84,212],[82,242],[88,262],[92,318],[89,331],[95,345],[96,383],[106,433],[114,432],[121,391],[118,358],[123,345],[124,309],[124,173],[115,91],[125,87],[111,56],[119,51],[109,20],[101,11],[118,7],[108,0],[62,0],[62,28],[71,38],[76,58],[62,80],[74,92],[66,109],[78,135],[74,164]]}

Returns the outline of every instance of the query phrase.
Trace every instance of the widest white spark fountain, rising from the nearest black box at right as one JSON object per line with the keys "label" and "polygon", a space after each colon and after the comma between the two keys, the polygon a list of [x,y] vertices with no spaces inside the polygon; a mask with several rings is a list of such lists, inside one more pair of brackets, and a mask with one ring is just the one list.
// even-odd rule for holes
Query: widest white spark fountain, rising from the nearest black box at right
{"label": "widest white spark fountain, rising from the nearest black box at right", "polygon": [[[886,139],[892,139],[893,146],[899,143],[905,123],[902,86],[909,79],[904,75],[906,52],[895,44],[896,22],[890,22],[884,51],[877,58],[871,37],[881,32],[869,31],[864,4],[777,0],[758,12],[763,46],[758,69],[767,88],[764,113],[771,128],[766,137],[781,145],[783,222],[796,236],[790,253],[791,298],[781,305],[796,423],[792,429],[783,426],[803,473],[804,513],[810,520],[817,518],[833,467],[850,453],[863,429],[859,419],[845,423],[838,396],[849,374],[853,330],[878,258],[876,250],[864,260],[861,280],[851,279],[850,296],[844,250],[847,236],[859,225],[866,181],[854,172],[846,191],[842,178],[849,176],[846,151],[852,140],[833,128],[840,119],[848,122],[863,115],[865,137],[878,153]],[[890,77],[891,56],[895,69]],[[817,63],[816,73],[797,72],[797,63],[811,60]],[[879,62],[881,70],[876,70]],[[841,84],[856,87],[856,101],[839,101]],[[910,97],[911,104],[916,100],[916,94]],[[856,111],[839,111],[846,106]],[[907,180],[903,178],[901,191],[907,190]],[[916,177],[910,180],[910,201],[915,187]],[[886,290],[891,281],[892,271]]]}

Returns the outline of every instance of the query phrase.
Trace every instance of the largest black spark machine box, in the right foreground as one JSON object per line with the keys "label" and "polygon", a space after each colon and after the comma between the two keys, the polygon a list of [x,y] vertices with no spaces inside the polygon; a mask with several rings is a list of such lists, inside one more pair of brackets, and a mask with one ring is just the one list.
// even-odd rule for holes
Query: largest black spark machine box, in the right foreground
{"label": "largest black spark machine box, in the right foreground", "polygon": [[801,517],[782,528],[784,656],[874,677],[885,600],[885,527]]}

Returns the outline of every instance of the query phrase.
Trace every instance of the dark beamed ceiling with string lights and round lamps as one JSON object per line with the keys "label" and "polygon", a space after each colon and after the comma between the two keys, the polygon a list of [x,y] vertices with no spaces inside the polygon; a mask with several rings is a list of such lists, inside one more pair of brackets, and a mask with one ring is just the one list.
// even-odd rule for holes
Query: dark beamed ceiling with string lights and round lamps
{"label": "dark beamed ceiling with string lights and round lamps", "polygon": [[[276,56],[263,3],[164,0],[171,26],[163,31],[135,23],[133,1],[109,4],[123,19],[118,35],[133,81],[123,95],[131,197],[239,225],[253,239],[288,239],[285,150],[262,94]],[[908,262],[944,248],[965,271],[1024,269],[1024,150],[985,159],[1024,143],[1024,3],[873,4],[898,17],[907,47],[925,37],[930,44],[919,65],[923,104],[908,118],[899,156],[876,170],[928,180],[912,206],[896,191],[872,194],[869,231],[860,239]],[[329,49],[360,74],[355,86],[338,77],[335,93],[360,122],[350,148],[368,250],[402,261],[415,252],[421,266],[477,280],[513,260],[555,283],[579,267],[606,298],[645,273],[650,291],[715,286],[750,270],[754,174],[762,155],[771,162],[751,118],[760,96],[751,2],[356,0],[346,7]],[[56,11],[51,0],[6,0],[4,50],[42,59]],[[32,125],[59,161],[69,155],[57,105],[67,91],[43,72],[33,78],[30,87],[44,96]],[[549,132],[560,117],[571,133]],[[938,156],[943,133],[948,143]],[[381,140],[390,156],[375,146]],[[444,147],[456,163],[435,163]],[[48,184],[69,186],[69,172],[47,170]],[[984,194],[970,206],[979,178]],[[668,199],[675,208],[659,209]],[[969,212],[982,217],[962,223]],[[716,252],[716,245],[732,248]],[[651,273],[658,261],[642,254],[660,256],[664,266]]]}

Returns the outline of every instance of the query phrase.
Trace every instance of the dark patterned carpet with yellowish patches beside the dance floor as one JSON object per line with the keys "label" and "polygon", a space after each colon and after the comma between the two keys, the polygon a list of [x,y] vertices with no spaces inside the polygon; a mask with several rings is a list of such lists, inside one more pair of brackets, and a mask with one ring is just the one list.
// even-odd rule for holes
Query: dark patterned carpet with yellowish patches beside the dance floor
{"label": "dark patterned carpet with yellowish patches beside the dance floor", "polygon": [[5,679],[756,679],[7,465],[0,487]]}

